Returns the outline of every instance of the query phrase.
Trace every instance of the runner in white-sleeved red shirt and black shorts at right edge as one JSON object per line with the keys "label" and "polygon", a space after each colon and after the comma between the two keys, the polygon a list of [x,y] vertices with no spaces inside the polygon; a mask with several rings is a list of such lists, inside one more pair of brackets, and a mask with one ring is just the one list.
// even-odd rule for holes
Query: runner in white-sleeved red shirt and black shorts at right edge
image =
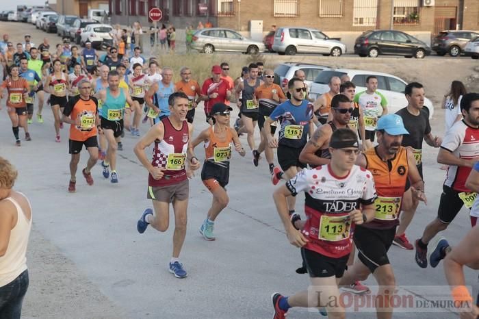
{"label": "runner in white-sleeved red shirt and black shorts at right edge", "polygon": [[454,220],[463,205],[471,208],[471,190],[465,186],[465,181],[474,163],[479,159],[479,94],[469,93],[461,100],[463,120],[452,125],[445,136],[437,162],[449,165],[443,185],[437,218],[424,229],[422,238],[415,242],[415,260],[421,268],[428,266],[428,243],[443,231]]}

